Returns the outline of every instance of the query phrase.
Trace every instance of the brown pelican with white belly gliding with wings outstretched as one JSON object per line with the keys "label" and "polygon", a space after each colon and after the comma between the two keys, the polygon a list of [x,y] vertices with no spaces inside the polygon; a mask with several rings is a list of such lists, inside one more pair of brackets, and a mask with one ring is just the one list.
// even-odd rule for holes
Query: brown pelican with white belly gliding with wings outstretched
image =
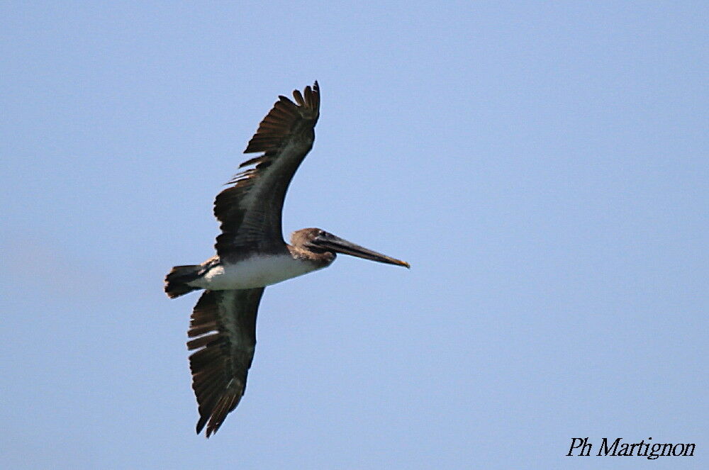
{"label": "brown pelican with white belly gliding with wings outstretched", "polygon": [[281,211],[296,169],[315,140],[320,116],[318,82],[279,96],[244,153],[262,153],[240,164],[250,167],[214,201],[221,223],[216,256],[202,264],[176,266],[165,278],[169,298],[204,289],[187,335],[192,388],[197,398],[197,433],[217,432],[244,394],[256,345],[256,314],[265,286],[328,267],[336,253],[409,267],[407,262],[367,250],[319,228],[303,228],[286,244]]}

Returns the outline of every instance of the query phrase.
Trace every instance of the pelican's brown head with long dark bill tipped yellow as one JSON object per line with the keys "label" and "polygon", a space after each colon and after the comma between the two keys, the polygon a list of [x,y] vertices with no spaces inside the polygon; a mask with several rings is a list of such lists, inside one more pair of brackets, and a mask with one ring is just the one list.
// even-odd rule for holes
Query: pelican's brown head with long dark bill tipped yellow
{"label": "pelican's brown head with long dark bill tipped yellow", "polygon": [[325,230],[321,228],[303,228],[297,230],[291,235],[291,245],[318,254],[326,252],[330,252],[333,255],[336,253],[350,254],[351,256],[370,259],[380,263],[396,264],[407,268],[410,267],[406,261],[401,261],[401,259],[395,259],[386,256],[386,254],[377,253],[352,242],[348,242],[332,233],[325,232]]}

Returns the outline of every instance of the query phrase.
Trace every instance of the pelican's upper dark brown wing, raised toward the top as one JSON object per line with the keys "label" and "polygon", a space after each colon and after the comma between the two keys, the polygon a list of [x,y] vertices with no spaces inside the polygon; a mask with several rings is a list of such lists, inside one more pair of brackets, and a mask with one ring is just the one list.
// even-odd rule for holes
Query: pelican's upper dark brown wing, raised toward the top
{"label": "pelican's upper dark brown wing, raised toward the top", "polygon": [[288,185],[303,159],[313,147],[315,125],[320,116],[320,88],[306,86],[293,92],[295,103],[285,96],[263,121],[244,153],[262,155],[240,164],[255,165],[236,174],[233,184],[214,201],[214,215],[222,233],[214,247],[220,257],[244,247],[261,250],[282,245],[281,211]]}

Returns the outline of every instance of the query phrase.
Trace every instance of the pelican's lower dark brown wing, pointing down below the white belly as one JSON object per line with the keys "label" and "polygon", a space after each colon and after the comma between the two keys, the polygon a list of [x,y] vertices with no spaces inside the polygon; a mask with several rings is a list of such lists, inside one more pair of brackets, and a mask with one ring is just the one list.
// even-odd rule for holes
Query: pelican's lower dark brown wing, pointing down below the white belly
{"label": "pelican's lower dark brown wing, pointing down below the white belly", "polygon": [[199,405],[197,434],[217,432],[239,404],[256,346],[256,313],[264,291],[204,291],[194,306],[187,335],[192,388]]}

